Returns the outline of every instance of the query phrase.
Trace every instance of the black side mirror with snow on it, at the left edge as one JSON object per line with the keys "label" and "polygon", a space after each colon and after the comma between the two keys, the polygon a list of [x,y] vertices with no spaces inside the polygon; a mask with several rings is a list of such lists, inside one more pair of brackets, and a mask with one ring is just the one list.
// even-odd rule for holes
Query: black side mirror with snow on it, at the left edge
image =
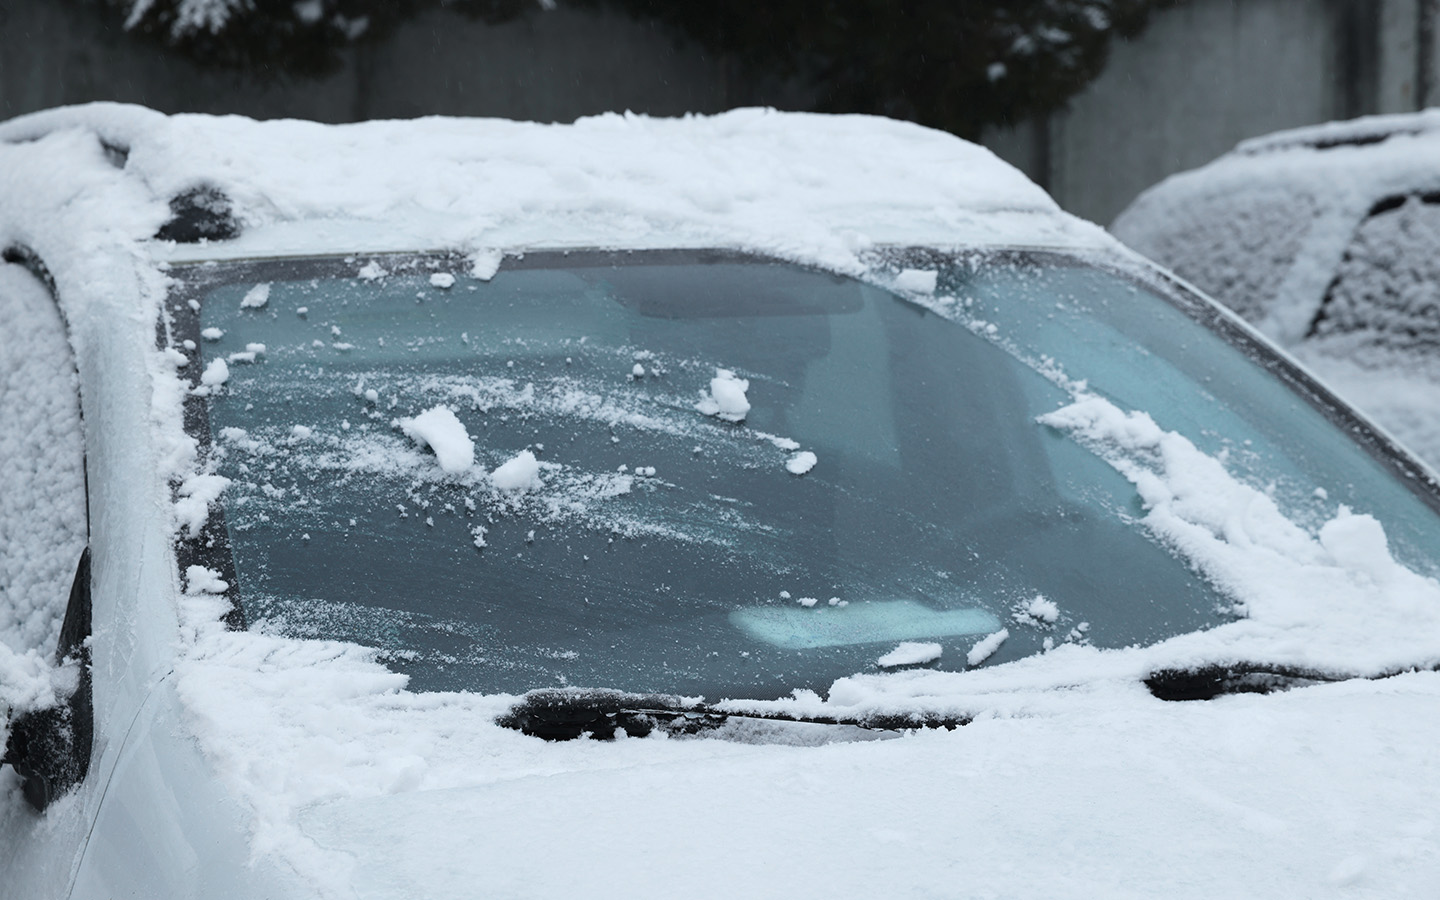
{"label": "black side mirror with snow on it, at the left edge", "polygon": [[10,721],[0,765],[14,766],[26,802],[43,811],[81,783],[89,770],[95,739],[95,706],[91,693],[91,567],[89,547],[81,553],[71,585],[71,600],[60,625],[55,662],[76,672],[75,690],[53,707],[29,710]]}

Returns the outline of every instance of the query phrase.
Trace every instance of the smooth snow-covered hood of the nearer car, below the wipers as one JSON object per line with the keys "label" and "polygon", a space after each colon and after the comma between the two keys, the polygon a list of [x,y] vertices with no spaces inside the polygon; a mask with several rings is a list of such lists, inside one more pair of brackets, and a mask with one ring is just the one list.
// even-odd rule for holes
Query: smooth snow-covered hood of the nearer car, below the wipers
{"label": "smooth snow-covered hood of the nearer car, below the wipers", "polygon": [[300,821],[366,900],[1420,894],[1440,816],[1413,716],[1437,693],[1418,674],[870,743],[582,742],[562,756],[585,772]]}

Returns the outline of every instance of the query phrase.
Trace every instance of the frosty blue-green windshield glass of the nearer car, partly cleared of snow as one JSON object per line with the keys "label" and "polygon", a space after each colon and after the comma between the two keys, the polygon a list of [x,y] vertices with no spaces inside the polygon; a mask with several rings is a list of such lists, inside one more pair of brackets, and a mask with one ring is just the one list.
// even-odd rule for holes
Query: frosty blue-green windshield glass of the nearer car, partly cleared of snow
{"label": "frosty blue-green windshield glass of the nearer car, partly cleared of snow", "polygon": [[415,690],[719,700],[1233,618],[1133,485],[1037,422],[1071,399],[1057,364],[1300,520],[1326,485],[1391,503],[1397,556],[1433,541],[1159,295],[1058,256],[923,262],[929,307],[899,262],[896,292],[688,251],[186,269],[173,327],[251,626],[377,647]]}

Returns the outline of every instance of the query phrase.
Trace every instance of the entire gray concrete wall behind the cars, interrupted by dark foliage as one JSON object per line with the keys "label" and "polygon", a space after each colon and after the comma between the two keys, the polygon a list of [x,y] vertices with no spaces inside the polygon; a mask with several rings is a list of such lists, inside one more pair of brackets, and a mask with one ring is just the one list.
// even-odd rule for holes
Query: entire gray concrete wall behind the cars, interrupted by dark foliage
{"label": "entire gray concrete wall behind the cars, interrupted by dark foliage", "polygon": [[[1437,6],[1188,0],[1116,42],[1104,73],[1067,109],[995,128],[984,143],[1061,206],[1104,223],[1149,184],[1247,137],[1440,99]],[[717,112],[759,96],[812,105],[804,89],[750,84],[730,60],[647,24],[566,7],[501,26],[435,12],[384,45],[350,50],[327,79],[256,86],[164,56],[92,9],[0,0],[0,118],[117,99],[256,118],[572,121],[609,109]]]}

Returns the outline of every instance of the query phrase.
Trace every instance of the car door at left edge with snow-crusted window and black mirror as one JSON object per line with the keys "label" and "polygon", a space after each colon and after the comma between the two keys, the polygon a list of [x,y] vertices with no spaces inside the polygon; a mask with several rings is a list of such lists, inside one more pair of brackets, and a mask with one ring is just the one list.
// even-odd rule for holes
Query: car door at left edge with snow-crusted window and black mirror
{"label": "car door at left edge with snow-crusted window and black mirror", "polygon": [[68,890],[86,829],[85,805],[65,795],[89,762],[89,576],[75,357],[26,259],[0,264],[0,662],[49,675],[62,701],[26,708],[24,685],[0,678],[0,894],[45,897]]}

